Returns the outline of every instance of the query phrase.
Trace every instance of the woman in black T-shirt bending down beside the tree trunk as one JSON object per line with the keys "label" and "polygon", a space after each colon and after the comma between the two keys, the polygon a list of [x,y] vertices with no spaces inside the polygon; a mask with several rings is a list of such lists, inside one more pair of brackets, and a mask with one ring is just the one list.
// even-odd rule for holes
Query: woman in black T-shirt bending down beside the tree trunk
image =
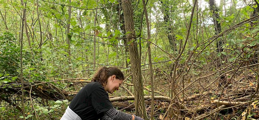
{"label": "woman in black T-shirt bending down beside the tree trunk", "polygon": [[[109,100],[108,93],[119,90],[124,79],[117,67],[101,67],[73,98],[61,120],[144,120],[118,111]],[[107,93],[108,92],[108,93]]]}

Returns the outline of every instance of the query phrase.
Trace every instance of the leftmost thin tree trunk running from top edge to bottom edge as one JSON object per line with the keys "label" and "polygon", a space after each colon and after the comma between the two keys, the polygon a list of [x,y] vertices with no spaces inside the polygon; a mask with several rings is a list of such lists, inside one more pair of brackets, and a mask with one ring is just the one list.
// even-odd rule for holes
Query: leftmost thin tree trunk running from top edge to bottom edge
{"label": "leftmost thin tree trunk running from top edge to bottom edge", "polygon": [[[21,4],[23,6],[23,0],[21,0]],[[25,19],[25,12],[26,12],[26,2],[25,2],[25,5],[24,5],[24,8],[23,8],[23,18],[22,18],[22,28],[21,28],[21,39],[20,39],[20,44],[21,44],[21,47],[20,47],[20,69],[21,69],[21,76],[20,76],[20,79],[21,79],[21,84],[22,84],[22,89],[21,89],[21,92],[22,92],[22,109],[23,109],[23,120],[25,120],[25,111],[24,111],[24,86],[23,86],[23,26],[24,26],[24,19]]]}

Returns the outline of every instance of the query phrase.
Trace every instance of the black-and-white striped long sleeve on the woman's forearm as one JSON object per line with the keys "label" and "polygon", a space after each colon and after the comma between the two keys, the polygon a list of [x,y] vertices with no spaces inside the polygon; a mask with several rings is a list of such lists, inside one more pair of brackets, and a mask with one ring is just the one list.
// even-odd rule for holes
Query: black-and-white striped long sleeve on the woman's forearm
{"label": "black-and-white striped long sleeve on the woman's forearm", "polygon": [[121,112],[115,108],[104,112],[104,114],[100,120],[132,120],[132,115]]}

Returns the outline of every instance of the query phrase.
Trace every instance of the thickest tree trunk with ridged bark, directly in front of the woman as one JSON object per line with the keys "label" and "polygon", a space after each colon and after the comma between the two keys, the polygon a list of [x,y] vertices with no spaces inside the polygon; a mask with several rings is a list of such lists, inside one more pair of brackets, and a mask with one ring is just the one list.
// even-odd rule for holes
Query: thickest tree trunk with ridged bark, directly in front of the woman
{"label": "thickest tree trunk with ridged bark, directly in front of the woman", "polygon": [[125,1],[121,4],[124,14],[124,22],[127,34],[127,42],[131,42],[129,46],[130,52],[130,63],[131,70],[133,72],[133,84],[135,91],[135,111],[136,115],[147,120],[147,114],[145,110],[144,94],[143,94],[143,82],[139,79],[139,53],[135,41],[135,30],[134,30],[134,20],[133,20],[133,10],[131,5],[131,0]]}

